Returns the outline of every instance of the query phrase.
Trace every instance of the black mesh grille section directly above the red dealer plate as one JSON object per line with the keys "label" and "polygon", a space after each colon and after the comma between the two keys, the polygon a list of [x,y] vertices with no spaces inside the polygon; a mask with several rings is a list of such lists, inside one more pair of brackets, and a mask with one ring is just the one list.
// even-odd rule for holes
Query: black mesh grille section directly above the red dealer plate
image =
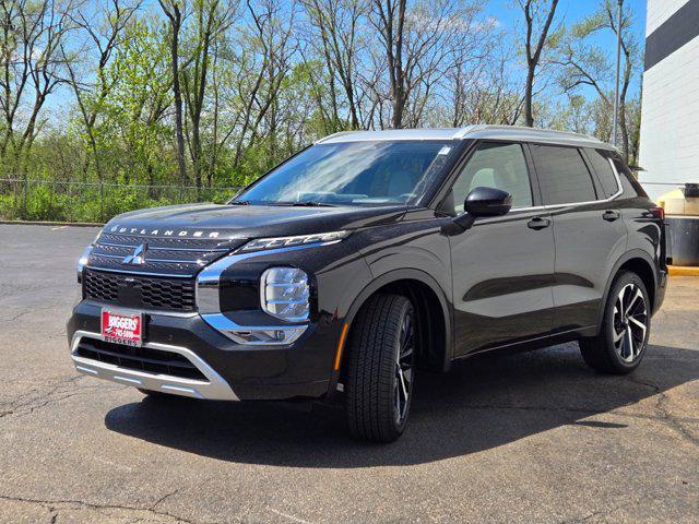
{"label": "black mesh grille section directly above the red dealer plate", "polygon": [[137,309],[194,311],[194,279],[166,278],[85,269],[85,298]]}

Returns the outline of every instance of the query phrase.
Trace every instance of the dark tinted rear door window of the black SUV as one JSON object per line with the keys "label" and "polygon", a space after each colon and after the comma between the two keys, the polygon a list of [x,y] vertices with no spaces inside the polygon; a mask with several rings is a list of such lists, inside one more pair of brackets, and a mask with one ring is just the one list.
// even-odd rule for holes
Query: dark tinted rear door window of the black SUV
{"label": "dark tinted rear door window of the black SUV", "polygon": [[532,144],[544,204],[572,204],[597,199],[580,152],[574,147]]}

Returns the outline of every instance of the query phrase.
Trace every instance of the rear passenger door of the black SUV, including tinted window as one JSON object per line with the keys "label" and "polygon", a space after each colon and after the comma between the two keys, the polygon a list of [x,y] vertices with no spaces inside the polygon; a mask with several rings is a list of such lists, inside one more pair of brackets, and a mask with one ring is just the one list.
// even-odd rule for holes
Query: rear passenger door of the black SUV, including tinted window
{"label": "rear passenger door of the black SUV, including tinted window", "polygon": [[[626,251],[627,229],[615,200],[618,179],[601,186],[582,150],[534,144],[530,150],[543,202],[554,219],[554,332],[592,327],[612,269]],[[604,162],[611,171],[608,160],[602,159],[599,168]]]}

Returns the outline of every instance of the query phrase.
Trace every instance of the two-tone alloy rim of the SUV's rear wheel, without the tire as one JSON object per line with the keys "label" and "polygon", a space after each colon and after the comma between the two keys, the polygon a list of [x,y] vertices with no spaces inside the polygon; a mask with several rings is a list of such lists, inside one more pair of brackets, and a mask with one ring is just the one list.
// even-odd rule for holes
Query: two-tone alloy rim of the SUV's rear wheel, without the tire
{"label": "two-tone alloy rim of the SUV's rear wheel, without the tire", "polygon": [[617,295],[613,317],[614,347],[625,362],[632,362],[645,345],[648,308],[643,291],[627,284]]}

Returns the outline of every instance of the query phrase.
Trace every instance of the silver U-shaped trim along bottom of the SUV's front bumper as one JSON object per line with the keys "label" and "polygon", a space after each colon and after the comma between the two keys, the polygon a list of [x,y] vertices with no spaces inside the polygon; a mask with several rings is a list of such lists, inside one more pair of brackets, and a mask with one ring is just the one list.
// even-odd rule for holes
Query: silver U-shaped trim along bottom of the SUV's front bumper
{"label": "silver U-shaped trim along bottom of the SUV's front bumper", "polygon": [[75,369],[83,374],[98,377],[121,384],[129,384],[145,390],[162,391],[175,395],[190,396],[194,398],[209,398],[217,401],[238,401],[228,382],[221,377],[201,357],[187,347],[170,346],[156,342],[146,342],[143,347],[149,349],[159,349],[164,352],[177,353],[187,358],[192,365],[206,377],[208,382],[201,380],[183,379],[169,374],[156,374],[146,371],[121,368],[112,364],[106,364],[91,358],[75,355],[78,345],[82,338],[93,338],[104,341],[99,333],[88,331],[76,331],[71,341],[71,358]]}

